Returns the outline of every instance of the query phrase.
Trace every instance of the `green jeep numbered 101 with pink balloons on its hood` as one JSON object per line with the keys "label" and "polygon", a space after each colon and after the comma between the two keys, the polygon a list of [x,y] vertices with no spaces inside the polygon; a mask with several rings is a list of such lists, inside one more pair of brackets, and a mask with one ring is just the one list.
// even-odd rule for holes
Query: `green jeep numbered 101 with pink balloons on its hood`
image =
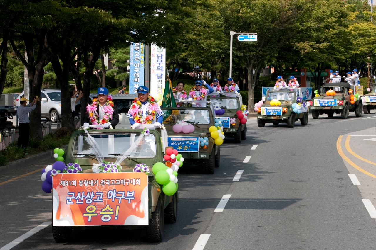
{"label": "green jeep numbered 101 with pink balloons on its hood", "polygon": [[[204,172],[213,174],[220,164],[220,147],[215,145],[209,127],[214,126],[214,107],[209,101],[188,101],[180,107],[162,108],[164,126],[168,133],[168,145],[179,151],[184,164],[193,162],[203,166]],[[176,133],[173,126],[186,122],[194,126],[191,133]],[[200,137],[208,138],[208,145],[200,146]]]}

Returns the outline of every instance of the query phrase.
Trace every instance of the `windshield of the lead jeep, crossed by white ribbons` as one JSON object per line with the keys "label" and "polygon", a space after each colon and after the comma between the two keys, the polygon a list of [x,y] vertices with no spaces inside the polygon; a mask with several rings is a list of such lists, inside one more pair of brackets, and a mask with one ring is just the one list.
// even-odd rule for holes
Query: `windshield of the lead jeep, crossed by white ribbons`
{"label": "windshield of the lead jeep, crossed by white ribbons", "polygon": [[[149,134],[135,145],[141,133],[91,133],[90,134],[99,146],[104,158],[117,158],[119,155],[135,146],[129,157],[155,157],[156,142],[155,136]],[[78,134],[73,143],[73,157],[90,157],[95,155],[95,151],[88,140],[87,134]]]}

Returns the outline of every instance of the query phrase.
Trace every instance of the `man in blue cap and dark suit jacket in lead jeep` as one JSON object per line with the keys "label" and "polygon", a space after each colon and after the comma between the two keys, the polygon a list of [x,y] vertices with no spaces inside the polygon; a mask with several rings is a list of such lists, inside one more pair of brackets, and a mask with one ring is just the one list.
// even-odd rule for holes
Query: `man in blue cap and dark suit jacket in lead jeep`
{"label": "man in blue cap and dark suit jacket in lead jeep", "polygon": [[[98,115],[98,120],[101,121],[102,119],[105,119],[103,116],[107,116],[104,111],[104,107],[107,104],[108,99],[108,89],[106,87],[99,87],[97,91],[97,110],[96,114]],[[115,126],[119,123],[119,113],[117,111],[117,105],[113,104],[112,107],[112,115],[111,117],[108,117],[108,122],[106,122],[104,125],[105,128],[112,127],[115,128]],[[84,123],[91,123],[89,118],[89,112],[85,114],[85,117],[83,118]],[[100,122],[98,122],[100,123]],[[85,126],[85,125],[84,125]]]}

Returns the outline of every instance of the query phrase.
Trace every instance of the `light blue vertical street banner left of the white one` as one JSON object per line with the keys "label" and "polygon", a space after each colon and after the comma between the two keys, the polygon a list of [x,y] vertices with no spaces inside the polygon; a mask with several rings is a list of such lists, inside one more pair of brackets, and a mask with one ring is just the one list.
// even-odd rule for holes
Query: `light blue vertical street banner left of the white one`
{"label": "light blue vertical street banner left of the white one", "polygon": [[129,53],[129,93],[137,93],[138,86],[144,86],[145,45],[139,42],[130,45]]}

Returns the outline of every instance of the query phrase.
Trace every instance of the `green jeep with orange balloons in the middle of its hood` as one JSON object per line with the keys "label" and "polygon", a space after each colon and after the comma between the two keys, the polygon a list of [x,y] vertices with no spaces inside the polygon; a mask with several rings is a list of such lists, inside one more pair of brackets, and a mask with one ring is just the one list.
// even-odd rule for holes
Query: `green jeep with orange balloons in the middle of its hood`
{"label": "green jeep with orange balloons in the middle of its hood", "polygon": [[[318,119],[320,114],[327,114],[328,117],[333,117],[334,113],[336,113],[341,114],[342,119],[347,119],[349,111],[355,112],[356,117],[361,117],[363,109],[361,98],[351,103],[350,89],[355,94],[355,86],[351,86],[349,83],[325,83],[321,87],[320,96],[312,99],[312,118]],[[335,95],[327,95],[328,91],[334,91]]]}

